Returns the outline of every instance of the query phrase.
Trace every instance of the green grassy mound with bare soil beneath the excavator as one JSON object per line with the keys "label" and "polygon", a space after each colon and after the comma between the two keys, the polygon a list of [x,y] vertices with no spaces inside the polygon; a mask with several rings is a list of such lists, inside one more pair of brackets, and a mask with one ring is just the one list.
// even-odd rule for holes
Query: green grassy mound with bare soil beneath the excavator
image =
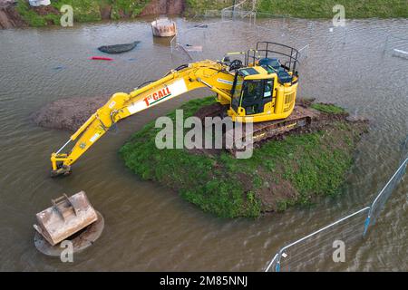
{"label": "green grassy mound with bare soil beneath the excavator", "polygon": [[[183,104],[184,118],[213,99]],[[316,109],[344,113],[334,105],[319,104]],[[174,121],[175,111],[168,116]],[[155,137],[161,129],[154,125],[147,124],[123,145],[126,166],[141,179],[160,182],[204,211],[226,218],[258,217],[309,204],[316,196],[337,195],[353,164],[356,142],[366,130],[363,122],[334,118],[324,130],[268,140],[252,158],[237,160],[224,150],[211,155],[159,150]]]}

